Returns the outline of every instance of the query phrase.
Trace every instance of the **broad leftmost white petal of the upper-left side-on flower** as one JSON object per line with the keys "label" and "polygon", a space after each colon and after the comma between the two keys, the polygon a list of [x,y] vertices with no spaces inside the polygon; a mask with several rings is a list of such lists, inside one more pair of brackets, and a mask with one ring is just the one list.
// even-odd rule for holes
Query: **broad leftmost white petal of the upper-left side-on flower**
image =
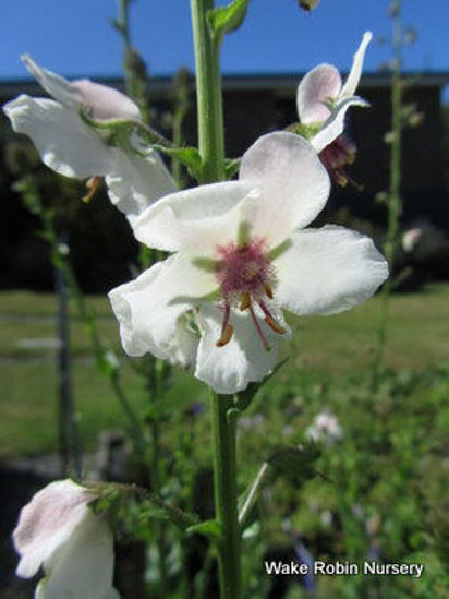
{"label": "broad leftmost white petal of the upper-left side-on flower", "polygon": [[43,161],[60,175],[86,179],[109,171],[110,148],[71,108],[22,95],[3,111],[14,131],[28,135]]}

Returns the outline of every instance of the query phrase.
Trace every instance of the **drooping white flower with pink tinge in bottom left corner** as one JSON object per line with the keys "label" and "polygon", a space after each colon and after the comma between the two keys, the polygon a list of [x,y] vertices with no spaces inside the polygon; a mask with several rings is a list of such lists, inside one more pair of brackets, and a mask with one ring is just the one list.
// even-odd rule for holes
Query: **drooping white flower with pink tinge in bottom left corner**
{"label": "drooping white flower with pink tinge in bottom left corner", "polygon": [[16,574],[31,578],[44,567],[37,599],[120,597],[112,587],[112,534],[105,517],[88,507],[96,499],[71,480],[58,480],[21,511],[13,532],[21,555]]}

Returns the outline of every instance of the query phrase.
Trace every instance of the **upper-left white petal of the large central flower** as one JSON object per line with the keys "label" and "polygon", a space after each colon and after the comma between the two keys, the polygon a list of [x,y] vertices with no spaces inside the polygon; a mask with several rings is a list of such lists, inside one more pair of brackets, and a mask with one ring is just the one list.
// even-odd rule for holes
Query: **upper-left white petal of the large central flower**
{"label": "upper-left white petal of the large central flower", "polygon": [[133,223],[134,235],[150,248],[214,255],[217,245],[235,239],[239,204],[252,190],[245,182],[227,181],[173,193]]}

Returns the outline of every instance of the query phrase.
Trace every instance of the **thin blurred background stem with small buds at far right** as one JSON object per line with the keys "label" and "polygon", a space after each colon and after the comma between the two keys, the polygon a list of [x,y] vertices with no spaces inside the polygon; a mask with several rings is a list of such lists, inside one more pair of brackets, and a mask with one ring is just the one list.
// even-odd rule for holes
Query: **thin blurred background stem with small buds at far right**
{"label": "thin blurred background stem with small buds at far right", "polygon": [[[401,3],[397,0],[397,13],[392,17],[392,47],[393,47],[393,67],[391,77],[391,148],[390,148],[390,183],[388,190],[388,226],[387,236],[384,244],[385,257],[390,266],[393,267],[395,255],[399,244],[399,224],[402,211],[401,201],[401,48],[402,48],[402,27],[401,27]],[[376,391],[379,382],[380,369],[384,362],[385,348],[388,339],[388,320],[389,302],[392,290],[392,276],[385,283],[380,293],[380,312],[377,327],[377,346],[373,366],[373,390]]]}

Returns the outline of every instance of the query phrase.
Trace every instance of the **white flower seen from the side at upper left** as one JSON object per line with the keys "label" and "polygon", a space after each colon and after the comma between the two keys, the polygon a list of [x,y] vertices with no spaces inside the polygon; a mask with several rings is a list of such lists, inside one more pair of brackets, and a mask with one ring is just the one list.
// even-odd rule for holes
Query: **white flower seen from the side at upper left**
{"label": "white flower seen from the side at upper left", "polygon": [[[97,120],[141,120],[137,106],[117,89],[89,80],[68,80],[40,68],[25,55],[29,72],[54,99],[21,95],[3,110],[19,133],[28,135],[43,161],[65,177],[106,177],[111,202],[132,223],[150,202],[175,191],[175,184],[159,155],[146,148],[145,156],[105,143],[80,116],[84,107]],[[136,148],[139,147],[135,141]]]}

